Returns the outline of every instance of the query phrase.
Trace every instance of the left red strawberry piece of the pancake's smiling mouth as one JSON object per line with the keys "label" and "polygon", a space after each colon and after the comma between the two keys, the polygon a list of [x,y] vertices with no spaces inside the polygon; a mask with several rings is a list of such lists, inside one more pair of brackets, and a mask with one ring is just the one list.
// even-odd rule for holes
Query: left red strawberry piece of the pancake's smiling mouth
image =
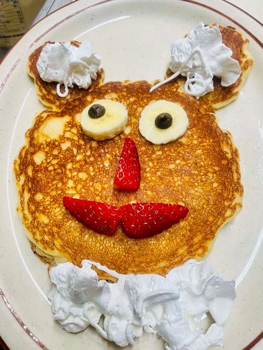
{"label": "left red strawberry piece of the pancake's smiling mouth", "polygon": [[91,230],[113,236],[120,221],[120,210],[113,205],[64,197],[63,204],[74,218]]}

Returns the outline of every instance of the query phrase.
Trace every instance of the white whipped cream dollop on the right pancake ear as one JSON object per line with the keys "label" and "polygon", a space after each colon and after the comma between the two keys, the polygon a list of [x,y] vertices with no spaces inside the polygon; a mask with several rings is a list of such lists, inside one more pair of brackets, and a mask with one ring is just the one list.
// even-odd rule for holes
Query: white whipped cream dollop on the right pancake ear
{"label": "white whipped cream dollop on the right pancake ear", "polygon": [[232,54],[222,43],[218,25],[210,28],[200,22],[187,38],[172,43],[169,68],[174,74],[150,92],[179,75],[187,77],[184,91],[196,98],[214,90],[214,76],[221,78],[222,86],[232,85],[241,75],[239,62],[231,58]]}

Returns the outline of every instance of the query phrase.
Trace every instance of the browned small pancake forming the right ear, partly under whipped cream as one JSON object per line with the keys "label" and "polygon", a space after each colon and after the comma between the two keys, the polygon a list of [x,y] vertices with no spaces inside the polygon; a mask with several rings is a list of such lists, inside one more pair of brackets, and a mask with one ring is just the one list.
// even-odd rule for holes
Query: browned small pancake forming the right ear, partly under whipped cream
{"label": "browned small pancake forming the right ear, partly under whipped cream", "polygon": [[[231,48],[232,58],[239,62],[241,75],[238,80],[230,86],[222,86],[221,79],[214,77],[214,91],[209,92],[200,99],[204,101],[208,99],[213,109],[219,109],[237,98],[243,84],[245,83],[251,68],[253,66],[253,58],[248,51],[249,40],[231,26],[219,26],[222,34],[222,42]],[[207,101],[206,101],[207,103]]]}

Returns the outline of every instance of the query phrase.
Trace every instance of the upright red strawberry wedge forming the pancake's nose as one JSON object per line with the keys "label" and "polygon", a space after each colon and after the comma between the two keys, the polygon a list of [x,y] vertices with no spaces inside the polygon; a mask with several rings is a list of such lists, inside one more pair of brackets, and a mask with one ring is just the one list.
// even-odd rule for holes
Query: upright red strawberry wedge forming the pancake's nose
{"label": "upright red strawberry wedge forming the pancake's nose", "polygon": [[141,166],[134,141],[126,137],[114,179],[114,189],[137,191],[141,181]]}

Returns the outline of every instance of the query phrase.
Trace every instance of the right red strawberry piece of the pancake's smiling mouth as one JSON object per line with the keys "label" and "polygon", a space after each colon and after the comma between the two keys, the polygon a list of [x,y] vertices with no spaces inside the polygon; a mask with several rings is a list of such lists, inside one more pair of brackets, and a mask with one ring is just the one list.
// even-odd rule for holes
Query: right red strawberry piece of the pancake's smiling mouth
{"label": "right red strawberry piece of the pancake's smiling mouth", "polygon": [[163,203],[133,203],[122,205],[122,229],[129,238],[145,238],[161,233],[183,219],[185,206]]}

